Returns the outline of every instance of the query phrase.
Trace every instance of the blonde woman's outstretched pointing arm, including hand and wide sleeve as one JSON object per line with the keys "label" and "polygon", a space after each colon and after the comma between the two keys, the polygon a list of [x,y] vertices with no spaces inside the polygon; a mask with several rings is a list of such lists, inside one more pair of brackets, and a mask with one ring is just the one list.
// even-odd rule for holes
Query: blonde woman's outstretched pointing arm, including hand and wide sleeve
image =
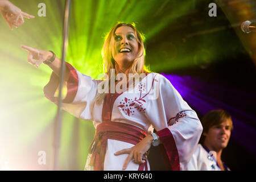
{"label": "blonde woman's outstretched pointing arm, including hand and wide sleeve", "polygon": [[[36,67],[39,67],[43,61],[49,60],[53,56],[50,51],[44,51],[28,46],[21,47],[28,51],[28,63],[36,65]],[[59,89],[60,83],[59,77],[61,60],[55,57],[55,60],[47,65],[53,72],[48,84],[44,86],[44,96],[54,104],[57,104],[57,90]],[[68,113],[75,115],[77,118],[94,121],[94,115],[96,115],[96,117],[98,117],[96,118],[97,120],[101,119],[98,114],[94,114],[93,107],[91,105],[97,93],[98,80],[80,73],[67,62],[65,62],[65,68],[63,109]]]}

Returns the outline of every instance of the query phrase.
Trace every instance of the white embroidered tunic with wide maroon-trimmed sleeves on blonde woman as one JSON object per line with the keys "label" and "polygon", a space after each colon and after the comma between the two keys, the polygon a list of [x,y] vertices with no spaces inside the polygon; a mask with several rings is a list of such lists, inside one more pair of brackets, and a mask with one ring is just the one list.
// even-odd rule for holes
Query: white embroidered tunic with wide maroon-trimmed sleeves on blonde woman
{"label": "white embroidered tunic with wide maroon-trimmed sleeves on blonde woman", "polygon": [[[93,107],[91,103],[101,80],[83,75],[70,64],[66,64],[71,74],[63,109],[77,118],[93,121],[94,127],[97,127],[102,122],[103,104]],[[46,97],[55,104],[56,97],[52,90],[55,92],[57,81],[58,77],[52,73],[51,80],[44,88]],[[148,73],[131,92],[123,92],[117,97],[113,104],[111,121],[134,125],[147,133],[152,133],[155,128],[160,140],[166,141],[163,145],[167,153],[170,151],[168,158],[172,169],[175,170],[187,168],[203,130],[195,111],[181,98],[171,82],[158,73]],[[122,170],[128,154],[115,156],[114,153],[133,146],[130,143],[108,139],[104,170]],[[172,158],[172,155],[176,155],[175,158]],[[126,170],[138,170],[138,167],[138,164],[131,161]]]}

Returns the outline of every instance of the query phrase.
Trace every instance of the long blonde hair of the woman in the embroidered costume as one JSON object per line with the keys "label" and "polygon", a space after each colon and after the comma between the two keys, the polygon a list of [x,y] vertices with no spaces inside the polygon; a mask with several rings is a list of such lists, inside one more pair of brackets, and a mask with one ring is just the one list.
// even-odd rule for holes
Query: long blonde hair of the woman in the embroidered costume
{"label": "long blonde hair of the woman in the embroidered costume", "polygon": [[[103,59],[103,69],[104,69],[104,73],[108,76],[107,78],[109,78],[108,84],[110,85],[110,79],[111,79],[111,75],[110,75],[110,69],[115,69],[115,60],[113,58],[112,55],[112,49],[114,46],[114,34],[115,31],[117,30],[118,27],[122,27],[122,26],[128,26],[133,28],[134,30],[134,34],[135,34],[135,38],[138,42],[138,54],[137,57],[134,59],[133,64],[131,65],[131,69],[129,71],[129,73],[144,73],[144,72],[149,72],[148,68],[144,66],[144,56],[145,56],[145,49],[144,49],[144,36],[143,34],[141,34],[137,28],[135,28],[135,24],[134,23],[117,23],[112,30],[110,30],[110,32],[106,35],[105,38],[105,43],[102,47],[102,51],[101,51],[101,56]],[[115,80],[115,78],[112,78]],[[108,89],[108,86],[106,87],[106,89]],[[108,90],[106,90],[108,91]],[[98,105],[100,105],[102,103],[102,101],[104,100],[106,94],[108,92],[104,92],[104,93],[96,93],[96,97],[94,98],[93,101],[93,105],[96,103]]]}

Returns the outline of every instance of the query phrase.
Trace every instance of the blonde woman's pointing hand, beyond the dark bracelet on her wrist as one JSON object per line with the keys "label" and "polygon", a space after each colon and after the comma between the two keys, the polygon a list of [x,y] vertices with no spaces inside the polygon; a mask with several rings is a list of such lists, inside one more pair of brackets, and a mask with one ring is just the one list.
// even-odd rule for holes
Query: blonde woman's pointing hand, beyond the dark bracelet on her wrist
{"label": "blonde woman's pointing hand, beyond the dark bracelet on her wrist", "polygon": [[28,51],[27,61],[32,65],[36,65],[38,68],[43,61],[48,60],[52,57],[52,52],[44,51],[28,46],[21,46],[23,49]]}

